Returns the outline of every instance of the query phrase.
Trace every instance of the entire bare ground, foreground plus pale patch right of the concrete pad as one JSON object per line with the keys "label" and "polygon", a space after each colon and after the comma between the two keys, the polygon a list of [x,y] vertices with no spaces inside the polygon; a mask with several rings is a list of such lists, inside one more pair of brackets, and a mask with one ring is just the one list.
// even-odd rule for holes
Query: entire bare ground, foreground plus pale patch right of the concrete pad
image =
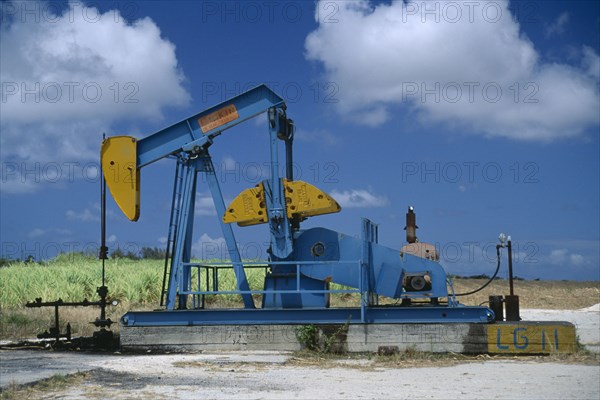
{"label": "entire bare ground, foreground plus pale patch right of the concrete pad", "polygon": [[[599,305],[522,311],[528,320],[571,321],[582,343],[592,350],[600,344]],[[373,355],[321,358],[281,352],[127,355],[1,350],[0,360],[6,399],[600,398],[600,356],[589,353],[444,355],[390,362]],[[53,376],[45,383],[23,386]]]}

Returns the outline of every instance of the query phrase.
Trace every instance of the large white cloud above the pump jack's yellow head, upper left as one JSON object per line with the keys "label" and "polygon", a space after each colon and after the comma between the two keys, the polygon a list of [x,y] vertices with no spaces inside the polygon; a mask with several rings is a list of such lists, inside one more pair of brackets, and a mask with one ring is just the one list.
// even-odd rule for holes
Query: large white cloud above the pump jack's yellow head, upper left
{"label": "large white cloud above the pump jack's yellow head, upper left", "polygon": [[[102,132],[116,122],[160,119],[165,107],[189,101],[175,46],[151,19],[127,22],[79,2],[54,15],[58,7],[40,4],[13,3],[17,12],[44,10],[43,18],[0,25],[3,161],[29,169],[96,161]],[[8,183],[6,193],[39,186],[20,176]]]}

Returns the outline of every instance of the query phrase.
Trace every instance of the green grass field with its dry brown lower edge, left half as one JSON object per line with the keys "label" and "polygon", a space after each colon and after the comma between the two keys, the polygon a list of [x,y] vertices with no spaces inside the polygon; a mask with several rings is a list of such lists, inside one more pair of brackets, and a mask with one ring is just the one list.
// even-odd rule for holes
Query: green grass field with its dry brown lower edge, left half
{"label": "green grass field with its dry brown lower edge, left half", "polygon": [[[199,262],[199,260],[194,260]],[[212,260],[210,262],[216,262]],[[127,258],[106,260],[106,286],[109,299],[118,300],[119,306],[109,307],[108,317],[117,320],[129,309],[156,309],[160,304],[163,279],[163,260],[131,260]],[[42,298],[43,301],[97,300],[96,289],[101,285],[101,261],[92,256],[71,253],[61,254],[45,263],[13,262],[0,267],[0,339],[33,337],[53,325],[51,307],[26,308],[25,303]],[[246,269],[253,290],[263,286],[263,268]],[[202,289],[206,289],[206,275],[202,274]],[[220,291],[235,289],[232,269],[219,271]],[[194,276],[192,288],[197,289]],[[212,276],[209,277],[212,289]],[[257,296],[258,297],[258,296]],[[239,307],[238,295],[212,295],[206,297],[207,307]],[[95,329],[89,324],[99,314],[98,307],[63,307],[60,309],[61,331],[70,322],[75,335],[88,335]],[[113,329],[116,325],[113,325]]]}

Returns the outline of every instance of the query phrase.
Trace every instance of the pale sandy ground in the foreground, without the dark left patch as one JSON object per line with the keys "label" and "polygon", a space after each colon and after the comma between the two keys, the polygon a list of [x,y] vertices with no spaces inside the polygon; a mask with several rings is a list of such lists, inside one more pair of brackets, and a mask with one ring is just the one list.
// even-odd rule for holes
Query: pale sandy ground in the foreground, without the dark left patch
{"label": "pale sandy ground in the foreground, without the dark left patch", "polygon": [[288,364],[291,355],[107,357],[71,385],[29,399],[598,399],[600,367],[490,360],[401,368],[363,360]]}

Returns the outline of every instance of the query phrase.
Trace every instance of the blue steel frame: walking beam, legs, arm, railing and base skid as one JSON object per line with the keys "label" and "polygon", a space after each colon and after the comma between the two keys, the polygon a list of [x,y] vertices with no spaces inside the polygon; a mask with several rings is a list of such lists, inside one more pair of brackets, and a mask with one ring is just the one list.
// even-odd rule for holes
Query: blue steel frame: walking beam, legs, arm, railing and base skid
{"label": "blue steel frame: walking beam, legs, arm, railing and base skid", "polygon": [[[212,130],[202,132],[199,119],[235,106],[238,117]],[[235,241],[233,229],[219,217],[223,237],[225,238],[231,267],[236,275],[236,290],[219,292],[218,290],[192,289],[192,268],[210,268],[208,264],[191,263],[191,247],[194,222],[194,205],[197,186],[197,175],[204,174],[215,204],[218,216],[225,214],[223,196],[215,175],[214,166],[208,152],[213,139],[224,130],[229,129],[256,115],[267,112],[269,122],[269,139],[271,153],[270,178],[263,181],[269,229],[271,233],[270,261],[260,263],[243,263]],[[233,99],[211,107],[201,113],[184,119],[170,127],[156,132],[137,142],[137,165],[142,168],[161,158],[176,156],[181,187],[174,188],[179,194],[178,213],[171,223],[176,227],[173,258],[169,274],[166,296],[166,311],[128,312],[122,318],[127,326],[139,325],[210,325],[210,324],[265,324],[265,323],[410,323],[410,322],[491,322],[493,313],[485,307],[458,306],[455,299],[448,296],[449,306],[390,307],[378,306],[376,279],[374,269],[373,245],[378,242],[377,225],[367,219],[363,220],[360,260],[315,262],[290,259],[294,251],[294,232],[285,207],[285,195],[282,179],[279,174],[278,140],[286,127],[285,103],[265,85],[260,85]],[[206,128],[206,127],[205,127]],[[179,176],[179,175],[178,175]],[[244,267],[284,268],[296,273],[295,290],[250,290]],[[336,266],[356,264],[359,269],[358,288],[351,290],[307,290],[301,288],[300,269],[303,265],[335,264]],[[215,267],[215,266],[212,266]],[[295,268],[294,268],[295,267]],[[207,270],[208,271],[208,270]],[[218,276],[218,272],[217,272]],[[208,281],[207,281],[208,282]],[[218,289],[218,286],[217,288]],[[358,308],[294,308],[294,309],[255,309],[253,294],[280,293],[359,293]],[[237,294],[242,297],[244,309],[235,310],[185,310],[188,297],[194,300],[198,296],[212,294]],[[194,306],[197,302],[194,301]],[[179,310],[177,310],[179,309]]]}

